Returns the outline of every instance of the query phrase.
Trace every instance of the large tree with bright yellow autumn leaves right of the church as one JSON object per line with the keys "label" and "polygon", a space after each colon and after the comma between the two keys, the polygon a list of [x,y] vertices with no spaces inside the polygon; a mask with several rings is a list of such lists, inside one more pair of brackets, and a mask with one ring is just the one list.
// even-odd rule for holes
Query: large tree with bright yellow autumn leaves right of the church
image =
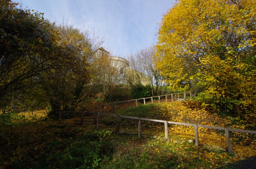
{"label": "large tree with bright yellow autumn leaves right of the church", "polygon": [[255,115],[254,0],[180,0],[159,24],[154,62],[174,90]]}

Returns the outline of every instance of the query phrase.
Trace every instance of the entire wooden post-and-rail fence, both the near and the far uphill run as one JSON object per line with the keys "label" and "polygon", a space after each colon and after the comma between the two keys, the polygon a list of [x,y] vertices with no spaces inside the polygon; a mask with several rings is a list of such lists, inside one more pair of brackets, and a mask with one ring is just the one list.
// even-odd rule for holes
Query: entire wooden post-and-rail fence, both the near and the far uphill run
{"label": "entire wooden post-and-rail fence, both the near and the far uphill run", "polygon": [[[182,93],[184,94],[184,99],[186,99],[186,93],[188,93],[188,92],[182,92]],[[174,101],[175,94],[177,96],[179,96],[179,94],[181,94],[181,93],[165,94],[165,95],[154,96],[154,97],[158,97],[159,98],[159,103],[160,103],[160,97],[165,97],[166,98],[166,102],[167,102],[167,97],[170,96],[170,95],[171,95],[171,101]],[[190,96],[191,96],[191,92],[190,92]],[[67,112],[61,112],[60,115],[59,115],[59,123],[61,123],[62,113],[81,113],[81,121],[78,124],[83,125],[84,114],[85,113],[92,113],[92,114],[94,114],[94,118],[93,118],[94,119],[94,124],[96,125],[97,128],[99,128],[99,118],[100,118],[100,115],[102,115],[102,116],[103,115],[114,116],[114,117],[116,117],[116,134],[118,134],[118,132],[119,132],[119,118],[136,119],[136,120],[138,120],[138,138],[140,138],[141,137],[141,120],[153,121],[153,122],[161,122],[161,123],[164,123],[164,133],[165,133],[165,141],[166,142],[168,142],[168,124],[193,126],[194,129],[195,129],[195,146],[196,147],[199,146],[198,127],[211,128],[211,129],[219,129],[219,130],[224,130],[225,131],[225,137],[226,137],[226,141],[227,141],[228,151],[231,154],[234,154],[234,151],[233,151],[232,146],[231,146],[229,131],[256,134],[256,131],[248,131],[248,130],[240,130],[240,129],[224,128],[224,127],[214,127],[214,126],[205,126],[205,125],[181,123],[181,122],[174,122],[174,121],[147,119],[147,118],[130,117],[130,116],[118,115],[118,114],[103,113],[103,107],[106,106],[106,105],[111,105],[112,104],[112,113],[114,113],[114,106],[117,103],[125,103],[125,102],[127,102],[128,103],[128,107],[129,107],[129,102],[136,101],[136,106],[137,106],[138,105],[137,104],[138,100],[142,100],[143,99],[144,104],[146,104],[146,100],[145,99],[151,98],[151,103],[153,103],[153,98],[154,97],[147,97],[147,98],[141,98],[141,99],[119,101],[119,102],[113,102],[113,103],[107,103],[107,104],[95,106],[95,112],[90,112],[90,111],[67,111]],[[97,107],[101,107],[101,113],[97,112]]]}

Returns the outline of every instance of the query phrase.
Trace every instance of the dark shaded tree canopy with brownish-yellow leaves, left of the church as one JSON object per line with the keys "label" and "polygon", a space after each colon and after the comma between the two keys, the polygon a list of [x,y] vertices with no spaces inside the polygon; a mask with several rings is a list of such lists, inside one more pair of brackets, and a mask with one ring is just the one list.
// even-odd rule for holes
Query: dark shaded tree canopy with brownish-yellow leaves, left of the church
{"label": "dark shaded tree canopy with brownish-yellow leaves, left of the church", "polygon": [[43,13],[17,8],[11,0],[0,5],[2,112],[42,104],[55,117],[74,110],[92,91],[90,65],[102,40],[86,29],[50,23]]}

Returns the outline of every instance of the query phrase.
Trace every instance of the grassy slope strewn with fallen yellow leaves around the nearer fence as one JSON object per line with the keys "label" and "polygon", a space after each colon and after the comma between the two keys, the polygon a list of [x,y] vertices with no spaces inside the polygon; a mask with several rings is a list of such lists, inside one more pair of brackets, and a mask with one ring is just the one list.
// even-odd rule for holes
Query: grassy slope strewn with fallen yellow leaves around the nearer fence
{"label": "grassy slope strewn with fallen yellow leaves around the nearer fence", "polygon": [[[118,111],[144,117],[210,126],[247,129],[252,125],[233,117],[211,114],[199,104],[175,102],[147,104]],[[121,132],[136,132],[137,120],[120,119]],[[68,120],[70,121],[70,120]],[[104,117],[100,129],[95,126],[61,125],[57,121],[18,124],[13,134],[1,138],[1,167],[6,168],[215,168],[256,155],[255,135],[230,132],[236,156],[196,148],[194,128],[169,125],[169,143],[164,143],[164,126],[142,121],[146,136],[115,135],[115,118]],[[152,139],[157,136],[156,139]],[[200,145],[226,147],[222,131],[202,129]]]}

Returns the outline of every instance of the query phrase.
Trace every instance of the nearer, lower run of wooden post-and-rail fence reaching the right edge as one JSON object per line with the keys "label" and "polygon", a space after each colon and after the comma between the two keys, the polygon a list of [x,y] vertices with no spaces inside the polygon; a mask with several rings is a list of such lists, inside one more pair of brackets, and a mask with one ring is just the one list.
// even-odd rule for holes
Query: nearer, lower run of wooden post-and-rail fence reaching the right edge
{"label": "nearer, lower run of wooden post-and-rail fence reaching the right edge", "polygon": [[[96,107],[95,107],[95,110],[96,110]],[[233,149],[232,149],[232,146],[231,146],[229,131],[256,134],[256,131],[240,130],[240,129],[224,128],[224,127],[214,127],[214,126],[205,126],[205,125],[197,125],[197,124],[174,122],[174,121],[166,121],[166,120],[157,120],[157,119],[147,119],[147,118],[131,117],[131,116],[125,116],[125,115],[118,115],[118,114],[99,113],[99,112],[96,112],[96,111],[95,112],[90,112],[90,111],[67,111],[67,112],[61,112],[60,116],[59,116],[59,123],[61,123],[61,115],[63,113],[81,113],[80,125],[83,125],[84,113],[94,114],[94,118],[92,118],[92,119],[94,119],[94,122],[95,122],[97,128],[99,128],[99,116],[100,115],[116,117],[116,134],[118,134],[118,132],[119,132],[119,118],[136,119],[136,120],[139,120],[139,123],[138,123],[138,138],[141,137],[141,134],[140,134],[141,133],[141,120],[153,121],[153,122],[162,122],[162,123],[164,123],[164,131],[165,131],[165,140],[166,140],[166,142],[168,142],[168,124],[183,125],[183,126],[193,126],[194,129],[195,129],[195,146],[196,147],[199,147],[198,127],[211,128],[211,129],[220,129],[220,130],[224,130],[225,131],[225,137],[226,137],[226,141],[227,141],[228,151],[231,154],[234,154],[234,152],[233,152]],[[96,114],[97,114],[97,118],[96,118]]]}

